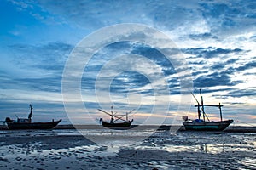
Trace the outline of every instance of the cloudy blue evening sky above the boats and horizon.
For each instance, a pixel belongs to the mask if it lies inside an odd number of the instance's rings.
[[[35,122],[97,124],[109,118],[97,109],[113,105],[134,109],[135,124],[181,124],[196,118],[190,93],[200,99],[201,89],[206,104],[224,105],[224,119],[256,124],[253,0],[1,0],[0,23],[0,120],[26,117],[32,104]],[[85,63],[92,38],[104,46]],[[218,108],[206,112],[219,119]]]

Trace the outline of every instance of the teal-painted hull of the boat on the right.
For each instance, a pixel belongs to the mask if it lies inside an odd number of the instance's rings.
[[[219,121],[219,122],[183,122],[186,130],[195,131],[223,131],[229,127],[233,120]]]

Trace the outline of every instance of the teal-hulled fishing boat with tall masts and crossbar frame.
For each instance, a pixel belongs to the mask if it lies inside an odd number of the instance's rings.
[[[226,127],[229,127],[230,124],[233,122],[233,120],[223,120],[222,111],[221,111],[221,107],[223,107],[223,105],[220,105],[220,103],[218,105],[204,105],[203,98],[201,95],[201,89],[200,89],[201,104],[195,98],[195,95],[194,94],[192,95],[195,101],[197,102],[197,105],[195,105],[195,107],[197,107],[198,119],[190,120],[188,116],[183,116],[183,120],[184,120],[183,126],[185,127],[186,130],[223,131]],[[217,122],[210,121],[210,119],[208,118],[205,112],[205,106],[218,107],[219,114],[220,114],[220,121],[217,121]],[[202,114],[202,119],[201,119],[201,114]]]

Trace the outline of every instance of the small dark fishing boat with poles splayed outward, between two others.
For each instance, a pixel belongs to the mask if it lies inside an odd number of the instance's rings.
[[[113,106],[111,107],[113,109]],[[108,128],[116,128],[116,127],[130,127],[131,123],[133,122],[133,119],[128,120],[128,115],[131,113],[131,111],[126,112],[125,115],[117,115],[113,111],[110,111],[111,113],[107,111],[103,111],[101,109],[98,109],[99,111],[102,111],[103,113],[106,113],[108,116],[110,116],[110,122],[105,122],[103,121],[102,118],[100,118],[100,122],[102,123],[103,127],[108,127]],[[123,117],[126,116],[126,119],[123,119]],[[121,122],[117,122],[121,121]]]

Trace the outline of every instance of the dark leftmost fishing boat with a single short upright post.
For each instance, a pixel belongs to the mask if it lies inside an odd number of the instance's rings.
[[[19,130],[19,129],[50,129],[55,126],[59,122],[61,122],[61,119],[59,121],[52,120],[51,122],[32,122],[32,105],[30,106],[30,113],[28,115],[28,118],[19,118],[17,116],[17,121],[14,122],[14,120],[11,120],[9,117],[6,117],[5,122],[7,123],[7,126],[10,130]]]

